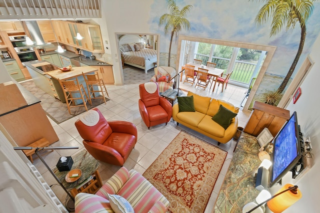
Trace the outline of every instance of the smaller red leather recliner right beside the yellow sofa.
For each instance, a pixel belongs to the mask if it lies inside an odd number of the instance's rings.
[[[148,129],[162,123],[166,125],[172,116],[172,105],[159,95],[158,85],[154,82],[140,84],[139,91],[139,112]]]

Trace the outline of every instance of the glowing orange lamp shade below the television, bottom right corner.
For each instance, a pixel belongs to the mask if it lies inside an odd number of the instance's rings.
[[[286,184],[277,193],[282,192],[290,187],[293,187],[293,185]],[[266,204],[269,210],[271,210],[273,213],[281,213],[300,198],[302,198],[302,194],[299,189],[289,190],[268,201]]]

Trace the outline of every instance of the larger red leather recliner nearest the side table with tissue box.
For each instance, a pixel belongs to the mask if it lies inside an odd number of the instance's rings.
[[[137,141],[134,124],[127,121],[109,121],[97,108],[84,113],[75,122],[85,149],[96,160],[123,166]]]

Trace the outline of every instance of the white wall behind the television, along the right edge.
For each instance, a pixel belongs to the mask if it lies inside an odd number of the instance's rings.
[[[319,100],[319,79],[320,79],[320,36],[317,37],[310,52],[310,58],[314,64],[302,82],[301,96],[295,104],[290,102],[287,109],[290,113],[296,111],[298,124],[305,137],[310,137],[314,162],[312,168],[302,174],[302,177],[295,183],[301,193],[302,198],[292,208],[289,213],[315,213],[318,212],[320,185],[320,100]]]

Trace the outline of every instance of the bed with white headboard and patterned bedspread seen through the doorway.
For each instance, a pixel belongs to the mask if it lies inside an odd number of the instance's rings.
[[[139,35],[122,35],[119,47],[123,63],[143,69],[144,73],[154,67],[156,50],[145,48]]]

